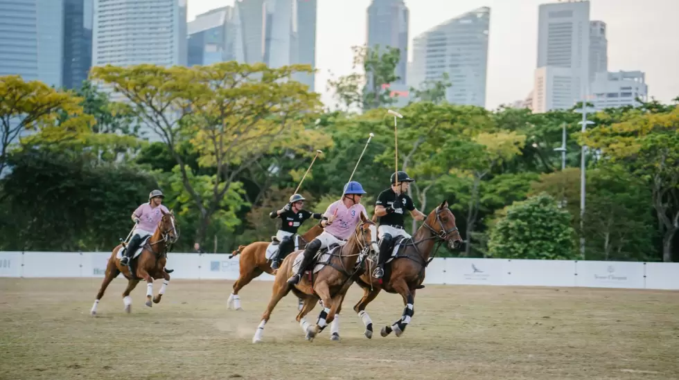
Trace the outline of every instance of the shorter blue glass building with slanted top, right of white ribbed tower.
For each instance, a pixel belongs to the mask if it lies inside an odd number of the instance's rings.
[[[229,51],[229,21],[233,8],[227,6],[197,15],[188,23],[188,66],[233,60]]]

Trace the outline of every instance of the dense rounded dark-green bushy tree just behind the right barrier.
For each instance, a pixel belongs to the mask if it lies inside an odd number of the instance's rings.
[[[571,215],[553,197],[540,194],[506,208],[491,228],[488,255],[529,260],[575,260]]]

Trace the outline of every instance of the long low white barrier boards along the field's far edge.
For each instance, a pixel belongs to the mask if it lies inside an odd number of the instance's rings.
[[[103,278],[109,252],[0,252],[0,277]],[[175,279],[236,280],[240,256],[170,253]],[[271,281],[263,273],[256,280]],[[679,263],[435,258],[425,284],[679,290]]]

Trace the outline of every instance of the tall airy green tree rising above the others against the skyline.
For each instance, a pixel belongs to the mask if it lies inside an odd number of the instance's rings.
[[[352,46],[353,69],[360,67],[363,74],[351,73],[337,80],[328,81],[328,90],[335,93],[339,106],[346,109],[375,109],[390,105],[396,100],[391,98],[389,84],[399,79],[396,66],[400,60],[400,50],[387,46]]]

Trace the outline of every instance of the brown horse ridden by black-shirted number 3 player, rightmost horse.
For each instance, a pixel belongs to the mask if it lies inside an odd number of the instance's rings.
[[[385,275],[376,280],[372,278],[370,269],[361,273],[356,283],[363,288],[363,298],[353,307],[365,326],[364,335],[373,336],[373,323],[365,312],[367,305],[374,300],[382,289],[387,293],[398,293],[403,297],[405,309],[403,315],[391,326],[382,327],[380,334],[387,336],[392,331],[396,336],[403,334],[405,327],[414,315],[415,290],[424,286],[425,269],[430,263],[430,253],[434,244],[448,242],[452,249],[458,248],[462,237],[455,224],[455,215],[448,208],[448,201],[443,201],[425,219],[412,239],[403,239],[403,248],[394,259],[385,265]],[[438,247],[436,248],[438,250]],[[370,261],[370,260],[367,260]]]

